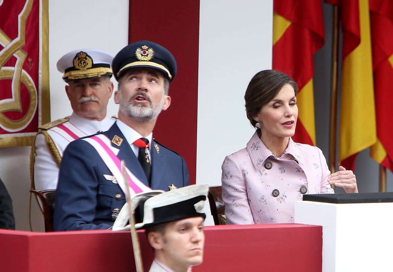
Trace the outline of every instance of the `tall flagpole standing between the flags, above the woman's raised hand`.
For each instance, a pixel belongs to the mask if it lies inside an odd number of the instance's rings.
[[[338,6],[334,6],[332,31],[332,77],[330,108],[330,156],[329,167],[336,172],[336,128],[337,128],[337,89],[338,89]]]

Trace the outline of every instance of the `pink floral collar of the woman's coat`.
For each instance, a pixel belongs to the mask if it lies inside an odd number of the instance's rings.
[[[299,145],[298,143],[294,142],[291,137],[289,137],[289,142],[288,142],[288,147],[285,150],[285,154],[283,155],[284,157],[287,157],[288,155],[292,155],[294,159],[298,160],[299,163],[303,165],[303,158],[301,156],[301,152],[299,150]],[[247,143],[247,151],[248,154],[251,157],[251,160],[253,161],[254,165],[259,168],[262,166],[262,163],[268,158],[268,157],[274,157],[274,154],[266,148],[266,146],[263,144],[261,139],[258,136],[258,130],[255,131],[254,135],[252,135],[250,141]],[[281,156],[282,159],[283,156]]]

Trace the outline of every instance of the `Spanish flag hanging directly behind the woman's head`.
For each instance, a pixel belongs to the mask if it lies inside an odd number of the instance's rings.
[[[273,69],[299,85],[294,141],[315,145],[313,54],[325,43],[321,1],[274,0]]]

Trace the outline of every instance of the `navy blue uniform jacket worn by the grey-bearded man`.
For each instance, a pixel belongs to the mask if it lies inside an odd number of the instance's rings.
[[[110,140],[114,135],[123,138],[118,157],[125,161],[129,170],[149,186],[145,173],[132,151],[130,144],[116,123],[102,132]],[[151,149],[151,188],[169,191],[171,184],[176,187],[189,185],[187,165],[180,155],[160,145],[160,153]],[[112,213],[125,204],[125,194],[120,186],[105,179],[103,174],[112,176],[95,148],[86,141],[72,141],[64,150],[55,198],[53,224],[55,231],[79,229],[108,229],[114,219]],[[116,195],[120,195],[117,198]],[[118,210],[117,210],[118,209]]]

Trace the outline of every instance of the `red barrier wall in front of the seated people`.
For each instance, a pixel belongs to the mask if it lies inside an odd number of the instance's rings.
[[[153,259],[138,231],[144,271]],[[205,227],[198,271],[321,271],[322,227],[266,224]],[[0,230],[1,271],[136,271],[129,232]]]

